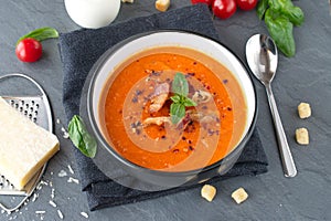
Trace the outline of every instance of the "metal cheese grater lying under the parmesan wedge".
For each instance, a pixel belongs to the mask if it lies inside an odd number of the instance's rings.
[[[26,85],[29,84],[26,87],[21,84],[20,88],[24,87],[23,92],[18,92],[18,88],[14,86],[15,83],[19,83],[17,82],[18,80],[21,81],[21,83],[25,83]],[[9,84],[10,82],[12,84]],[[0,76],[0,88],[6,87],[10,87],[11,91],[14,90],[13,94],[21,94],[6,95],[2,91],[0,91],[0,96],[2,98],[39,126],[47,129],[49,131],[53,130],[52,112],[46,93],[33,78],[19,73]],[[41,180],[45,167],[46,164],[34,175],[23,190],[15,189],[4,176],[0,175],[0,208],[7,212],[19,209],[33,193]]]

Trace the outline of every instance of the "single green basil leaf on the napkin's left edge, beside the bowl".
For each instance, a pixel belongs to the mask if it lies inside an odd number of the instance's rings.
[[[94,158],[96,155],[97,143],[95,138],[88,134],[83,119],[74,115],[68,124],[70,138],[86,157]]]

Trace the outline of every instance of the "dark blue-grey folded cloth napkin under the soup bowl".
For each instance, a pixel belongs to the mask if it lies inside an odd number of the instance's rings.
[[[196,32],[217,40],[210,10],[204,4],[190,6],[164,13],[131,19],[98,30],[77,30],[60,36],[60,51],[63,62],[63,104],[67,120],[79,114],[81,92],[93,64],[98,57],[119,41],[141,32],[160,29],[178,29]],[[196,187],[180,187],[162,191],[141,191],[124,187],[105,176],[92,159],[76,148],[77,168],[83,191],[87,193],[90,210],[114,207]],[[258,175],[267,171],[267,158],[257,130],[247,143],[235,166],[225,175],[210,182],[242,175]]]

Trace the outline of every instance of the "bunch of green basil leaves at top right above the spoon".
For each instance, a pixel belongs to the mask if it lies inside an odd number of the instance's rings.
[[[305,14],[291,0],[260,0],[257,15],[265,19],[267,29],[278,49],[288,57],[296,54],[293,27],[301,25]]]

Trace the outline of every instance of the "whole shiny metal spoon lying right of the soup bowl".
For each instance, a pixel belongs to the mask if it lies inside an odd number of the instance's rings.
[[[271,91],[271,82],[276,74],[278,63],[278,53],[275,42],[271,38],[264,34],[253,35],[246,43],[246,59],[253,74],[265,85],[267,91],[285,177],[295,177],[297,175],[297,168]]]

